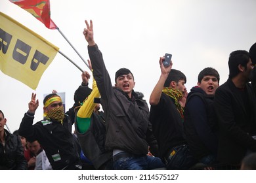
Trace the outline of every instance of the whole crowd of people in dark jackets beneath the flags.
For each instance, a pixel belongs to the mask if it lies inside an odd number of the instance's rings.
[[[0,110],[0,169],[256,169],[256,43],[229,55],[228,80],[219,86],[206,67],[188,92],[186,76],[163,65],[150,95],[135,92],[127,68],[115,84],[85,20],[89,68],[64,112],[55,92],[43,100],[45,117],[33,124],[39,106],[32,93],[18,131],[9,133]],[[100,105],[102,110],[100,110]],[[72,133],[72,125],[75,133]]]

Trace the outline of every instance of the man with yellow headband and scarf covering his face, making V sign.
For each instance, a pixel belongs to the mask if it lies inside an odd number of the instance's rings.
[[[62,99],[56,93],[51,93],[45,97],[43,105],[46,118],[33,125],[39,101],[32,93],[28,112],[20,124],[20,135],[39,141],[53,169],[81,169],[71,133],[72,122],[64,113]]]

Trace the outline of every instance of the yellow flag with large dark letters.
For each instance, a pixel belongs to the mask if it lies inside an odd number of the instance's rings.
[[[33,90],[58,47],[0,12],[0,70]]]

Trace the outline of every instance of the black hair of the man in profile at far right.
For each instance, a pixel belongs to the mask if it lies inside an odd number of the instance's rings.
[[[245,50],[236,50],[229,55],[228,58],[228,68],[229,68],[229,78],[234,78],[240,73],[238,65],[245,67],[247,70],[247,63],[249,61],[250,55],[249,52]]]

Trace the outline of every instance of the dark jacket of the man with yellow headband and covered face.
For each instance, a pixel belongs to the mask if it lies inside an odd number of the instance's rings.
[[[33,118],[32,114],[25,113],[18,131],[26,139],[39,141],[53,169],[79,165],[79,156],[70,133],[72,122],[68,116],[65,115],[63,125],[54,120],[41,120],[33,125]]]

